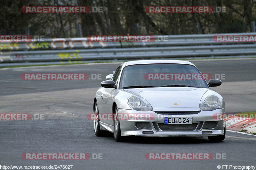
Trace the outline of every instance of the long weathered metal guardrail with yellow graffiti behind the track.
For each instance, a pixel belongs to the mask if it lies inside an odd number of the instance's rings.
[[[256,54],[255,42],[215,42],[215,35],[167,35],[167,41],[91,42],[88,38],[44,39],[31,42],[0,42],[1,63],[146,59],[175,57],[239,56]]]

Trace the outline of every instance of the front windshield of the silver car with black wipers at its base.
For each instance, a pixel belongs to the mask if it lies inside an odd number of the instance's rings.
[[[198,69],[187,64],[140,64],[123,69],[120,89],[147,87],[208,88]]]

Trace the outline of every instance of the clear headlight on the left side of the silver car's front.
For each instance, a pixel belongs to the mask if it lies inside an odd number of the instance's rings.
[[[129,106],[138,111],[151,111],[153,110],[152,106],[149,103],[143,102],[139,97],[132,96],[128,98]]]

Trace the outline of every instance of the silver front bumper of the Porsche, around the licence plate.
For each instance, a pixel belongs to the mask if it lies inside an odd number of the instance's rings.
[[[225,108],[212,111],[201,110],[197,114],[157,114],[154,110],[141,112],[133,109],[118,109],[120,115],[150,114],[151,117],[154,117],[150,120],[120,119],[122,136],[202,137],[223,135],[225,121],[223,119],[217,120],[214,115],[224,113]],[[192,117],[192,124],[166,125],[164,124],[164,117]],[[138,126],[138,124],[142,124],[142,126]]]

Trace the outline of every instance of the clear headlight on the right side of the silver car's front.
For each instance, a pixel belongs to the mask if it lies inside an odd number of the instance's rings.
[[[208,96],[203,103],[200,103],[201,110],[215,110],[219,107],[220,100],[216,96]]]

